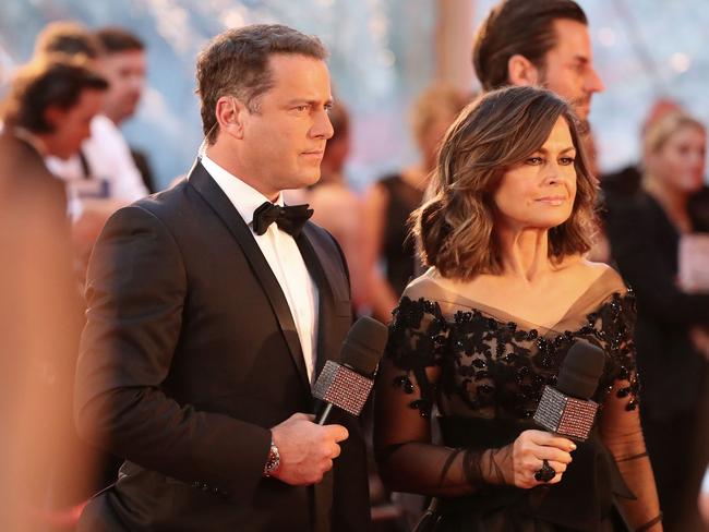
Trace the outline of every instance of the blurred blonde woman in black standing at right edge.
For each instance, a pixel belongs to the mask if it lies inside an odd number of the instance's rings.
[[[606,222],[613,256],[637,293],[641,419],[670,531],[701,530],[696,500],[709,446],[699,437],[707,420],[709,286],[689,292],[681,273],[709,267],[709,256],[680,250],[687,235],[709,230],[689,208],[702,188],[706,146],[705,126],[684,112],[654,121],[644,137],[641,190]]]

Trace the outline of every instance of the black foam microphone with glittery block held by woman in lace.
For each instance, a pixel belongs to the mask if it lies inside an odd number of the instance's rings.
[[[556,387],[544,386],[534,421],[549,432],[585,442],[598,410],[598,403],[590,397],[604,364],[602,349],[588,342],[574,343],[562,362]]]

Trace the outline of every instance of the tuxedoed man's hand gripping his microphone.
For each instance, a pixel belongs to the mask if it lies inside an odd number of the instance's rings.
[[[316,484],[333,469],[339,442],[349,436],[343,425],[316,425],[313,415],[297,413],[271,430],[280,466],[272,476],[286,484]]]

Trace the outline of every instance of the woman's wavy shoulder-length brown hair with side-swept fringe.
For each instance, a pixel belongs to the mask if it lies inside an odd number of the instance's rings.
[[[570,217],[549,231],[549,255],[561,261],[589,251],[598,182],[589,171],[578,119],[549,90],[507,87],[466,107],[443,140],[434,195],[410,220],[423,264],[462,280],[502,271],[493,194],[507,169],[542,147],[560,117],[576,148],[576,198]]]

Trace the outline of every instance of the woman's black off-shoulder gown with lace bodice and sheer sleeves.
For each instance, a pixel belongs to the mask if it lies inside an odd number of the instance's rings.
[[[615,530],[613,508],[632,524],[658,513],[638,415],[635,294],[614,271],[551,328],[426,279],[407,295],[394,311],[377,376],[374,449],[389,488],[435,497],[428,516],[436,531],[599,532]],[[520,487],[526,472],[515,470],[515,440],[538,428],[531,418],[543,388],[556,384],[578,341],[605,353],[592,397],[597,423],[558,483]]]

